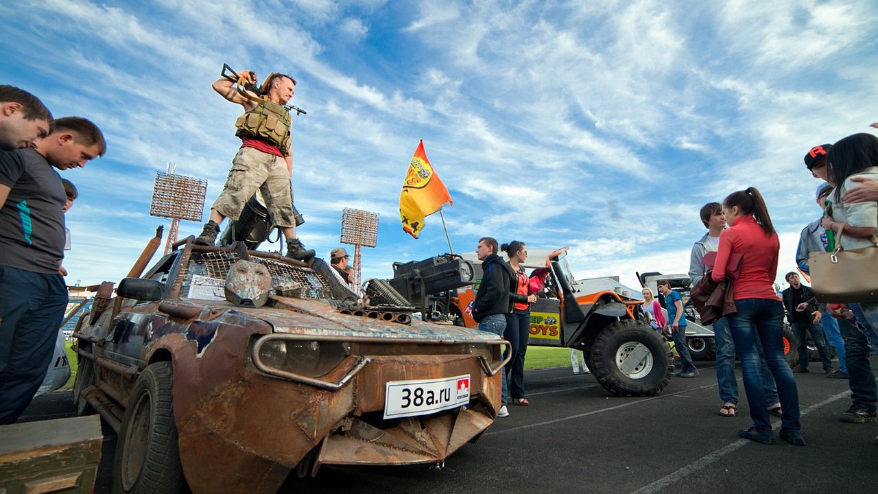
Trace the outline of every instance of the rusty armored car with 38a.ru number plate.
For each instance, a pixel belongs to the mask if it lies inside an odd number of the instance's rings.
[[[322,464],[441,465],[493,424],[494,335],[413,319],[382,300],[399,299],[389,286],[358,301],[321,259],[189,237],[138,278],[151,256],[115,296],[104,283],[75,332],[77,409],[119,432],[115,491],[275,492]],[[242,259],[255,272],[227,281]],[[262,300],[254,280],[270,283]]]

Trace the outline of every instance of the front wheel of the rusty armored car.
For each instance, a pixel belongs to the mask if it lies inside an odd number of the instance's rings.
[[[170,362],[156,362],[140,374],[119,430],[113,492],[133,494],[186,490],[174,422]]]

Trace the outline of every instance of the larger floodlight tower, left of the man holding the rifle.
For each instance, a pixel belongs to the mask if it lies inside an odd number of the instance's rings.
[[[153,202],[149,207],[150,216],[171,219],[168,243],[165,243],[165,255],[176,242],[180,220],[201,222],[207,194],[207,180],[176,175],[175,171],[176,164],[171,169],[171,163],[168,163],[165,173],[155,173]]]

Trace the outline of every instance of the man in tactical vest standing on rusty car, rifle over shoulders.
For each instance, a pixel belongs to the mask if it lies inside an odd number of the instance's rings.
[[[241,71],[241,79],[255,84],[256,74]],[[243,84],[243,80],[240,81]],[[198,245],[213,245],[219,234],[219,225],[226,218],[237,220],[244,205],[257,189],[265,198],[274,224],[286,238],[286,257],[308,261],[313,250],[305,250],[296,237],[296,218],[292,207],[292,150],[290,148],[290,113],[284,105],[296,89],[296,81],[285,74],[272,74],[263,84],[264,98],[245,96],[235,83],[220,77],[213,83],[213,91],[223,98],[244,107],[244,113],[235,121],[241,137],[241,149],[232,159],[226,185],[211,206],[211,215],[195,239]],[[246,91],[245,91],[246,93]]]

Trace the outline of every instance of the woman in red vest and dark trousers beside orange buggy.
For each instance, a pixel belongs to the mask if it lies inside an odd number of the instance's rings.
[[[524,243],[514,240],[500,245],[500,251],[506,252],[509,265],[515,271],[515,279],[509,287],[509,301],[513,302],[512,313],[506,315],[505,338],[512,344],[512,360],[509,360],[504,372],[508,373],[509,396],[512,403],[528,406],[524,397],[524,354],[528,352],[528,336],[530,334],[530,304],[536,301],[536,295],[530,289],[530,280],[524,273],[522,263],[528,258],[528,248]]]

